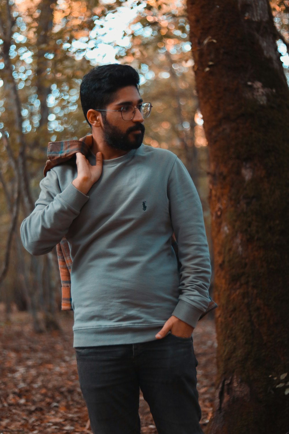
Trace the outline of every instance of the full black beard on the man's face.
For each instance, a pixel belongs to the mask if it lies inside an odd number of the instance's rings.
[[[140,130],[141,133],[130,134],[131,132],[138,130]],[[137,149],[143,143],[144,133],[145,127],[143,124],[135,124],[128,128],[123,134],[119,128],[111,125],[107,122],[107,119],[104,118],[103,138],[105,143],[110,148],[119,149],[121,151],[131,151],[131,149]]]

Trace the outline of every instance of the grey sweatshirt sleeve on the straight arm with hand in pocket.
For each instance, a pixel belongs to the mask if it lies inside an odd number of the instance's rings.
[[[211,264],[201,201],[179,158],[172,167],[167,194],[182,264],[179,302],[172,315],[195,327],[210,302]]]

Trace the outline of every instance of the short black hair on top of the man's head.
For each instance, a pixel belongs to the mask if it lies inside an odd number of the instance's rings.
[[[87,122],[89,109],[106,109],[114,100],[115,92],[126,86],[140,89],[139,73],[130,65],[100,65],[85,74],[80,85],[80,101]],[[101,115],[106,119],[106,112],[101,112]]]

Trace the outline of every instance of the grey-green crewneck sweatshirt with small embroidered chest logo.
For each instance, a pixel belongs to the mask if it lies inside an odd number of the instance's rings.
[[[92,152],[88,160],[95,164]],[[33,255],[68,240],[74,346],[154,340],[171,315],[195,327],[211,266],[201,202],[179,158],[141,145],[104,160],[88,195],[71,183],[76,176],[74,159],[52,168],[20,228]]]

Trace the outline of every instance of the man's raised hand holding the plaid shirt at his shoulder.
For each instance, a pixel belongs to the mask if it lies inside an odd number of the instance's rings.
[[[91,166],[87,158],[81,152],[76,153],[77,177],[72,184],[81,193],[87,194],[93,184],[99,180],[102,172],[102,154],[97,152],[96,164]]]

